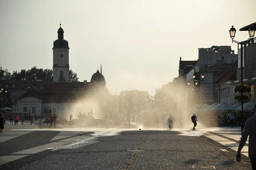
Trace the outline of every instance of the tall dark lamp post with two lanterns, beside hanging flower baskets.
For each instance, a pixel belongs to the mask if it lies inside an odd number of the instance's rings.
[[[235,42],[237,43],[238,45],[238,48],[239,48],[239,44],[241,45],[241,85],[243,85],[243,46],[247,43],[249,43],[250,41],[252,41],[253,43],[253,37],[254,37],[254,34],[255,34],[255,28],[253,28],[253,26],[251,26],[248,30],[248,33],[249,33],[249,37],[251,38],[251,40],[246,40],[246,41],[236,41],[234,40],[234,37],[236,35],[236,28],[234,28],[234,26],[232,26],[230,29],[229,29],[229,35],[230,35],[230,38],[232,39],[232,43]],[[243,92],[241,92],[242,95],[243,95]],[[244,130],[244,127],[245,127],[245,121],[244,121],[244,108],[243,108],[243,101],[241,102],[241,112],[242,112],[242,120],[241,120],[241,131],[243,132]]]

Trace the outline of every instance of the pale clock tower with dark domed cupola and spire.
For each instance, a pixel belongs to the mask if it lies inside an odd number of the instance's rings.
[[[58,39],[53,42],[53,83],[69,82],[69,44],[58,29]]]

